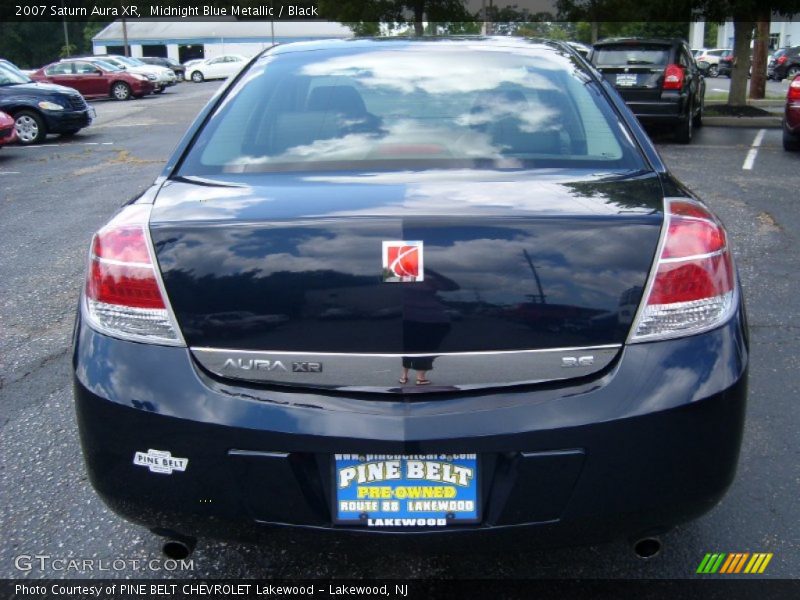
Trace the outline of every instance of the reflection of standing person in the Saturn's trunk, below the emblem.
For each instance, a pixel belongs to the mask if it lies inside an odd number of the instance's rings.
[[[458,284],[436,271],[427,269],[425,280],[403,288],[403,345],[409,355],[436,351],[450,332],[450,315],[438,292],[452,292]],[[398,380],[408,383],[409,370],[417,372],[416,385],[429,385],[428,371],[436,355],[404,356],[403,374]]]

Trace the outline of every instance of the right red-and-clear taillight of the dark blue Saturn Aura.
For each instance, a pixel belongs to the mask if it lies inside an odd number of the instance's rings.
[[[736,305],[736,274],[722,224],[693,200],[665,202],[661,252],[631,342],[706,331],[726,321]]]

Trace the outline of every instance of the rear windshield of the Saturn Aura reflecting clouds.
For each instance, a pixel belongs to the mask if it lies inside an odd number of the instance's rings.
[[[411,45],[267,55],[221,102],[179,174],[642,168],[571,55],[515,50]]]

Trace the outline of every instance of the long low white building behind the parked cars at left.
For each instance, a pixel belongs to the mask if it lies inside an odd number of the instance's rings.
[[[273,44],[347,38],[349,28],[326,21],[236,21],[192,19],[127,21],[131,56],[162,56],[185,62],[221,54],[255,56]],[[124,54],[123,22],[114,21],[92,38],[95,54]]]

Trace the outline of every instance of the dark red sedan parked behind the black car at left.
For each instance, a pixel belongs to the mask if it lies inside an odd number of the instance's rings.
[[[128,100],[131,96],[141,98],[153,91],[153,84],[144,75],[94,59],[52,63],[36,71],[31,79],[74,88],[87,98]]]

